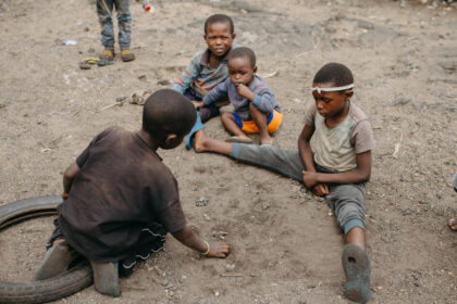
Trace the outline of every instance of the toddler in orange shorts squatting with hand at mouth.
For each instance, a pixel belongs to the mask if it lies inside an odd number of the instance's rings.
[[[273,92],[256,75],[256,54],[249,48],[237,48],[228,54],[228,78],[212,89],[196,106],[205,109],[228,97],[235,112],[223,113],[222,124],[234,135],[227,141],[251,143],[245,132],[260,132],[261,144],[273,144],[270,134],[277,130],[283,114]]]

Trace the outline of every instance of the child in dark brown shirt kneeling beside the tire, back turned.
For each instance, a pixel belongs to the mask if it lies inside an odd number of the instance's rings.
[[[187,98],[159,90],[145,103],[139,131],[112,127],[90,142],[64,173],[64,202],[36,280],[65,271],[82,254],[96,289],[119,296],[119,275],[161,250],[166,232],[208,257],[228,254],[227,244],[209,243],[186,225],[176,180],[156,152],[176,148],[195,119]]]

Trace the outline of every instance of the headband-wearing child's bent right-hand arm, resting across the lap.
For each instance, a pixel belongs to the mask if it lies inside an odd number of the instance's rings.
[[[311,188],[320,182],[359,183],[368,181],[371,175],[371,150],[356,154],[356,168],[344,173],[304,172],[305,186]]]

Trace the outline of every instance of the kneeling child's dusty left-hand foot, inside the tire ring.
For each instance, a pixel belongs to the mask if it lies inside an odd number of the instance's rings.
[[[46,280],[65,273],[70,264],[74,262],[79,254],[74,251],[65,241],[51,246],[45,254],[45,258],[35,273],[35,280]]]

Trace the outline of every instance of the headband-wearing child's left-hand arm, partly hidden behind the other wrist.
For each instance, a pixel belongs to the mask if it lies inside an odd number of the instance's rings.
[[[301,163],[305,165],[307,173],[316,173],[314,162],[312,160],[311,145],[309,144],[313,132],[314,127],[305,124],[305,127],[301,130],[300,136],[298,137],[298,151],[300,153]],[[312,190],[318,197],[330,194],[329,187],[323,182],[318,182],[313,186],[308,187],[308,185],[305,181],[305,174],[304,183],[308,189],[313,188]]]

